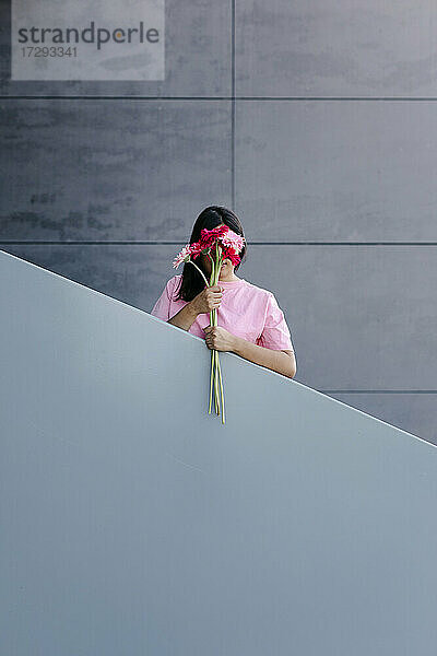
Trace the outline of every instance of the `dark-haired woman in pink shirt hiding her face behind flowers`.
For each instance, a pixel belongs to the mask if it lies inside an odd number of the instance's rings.
[[[205,208],[198,216],[190,244],[198,242],[200,231],[227,225],[244,237],[239,219],[221,206]],[[211,257],[215,259],[212,249]],[[185,262],[181,274],[170,278],[152,309],[152,315],[202,337],[209,349],[232,351],[250,362],[273,370],[288,378],[296,374],[296,359],[284,313],[274,294],[257,286],[235,271],[246,259],[246,245],[235,267],[225,259],[218,284],[205,288],[201,273],[190,262]],[[210,280],[211,260],[208,255],[196,258]],[[210,326],[210,312],[218,308],[218,326]]]

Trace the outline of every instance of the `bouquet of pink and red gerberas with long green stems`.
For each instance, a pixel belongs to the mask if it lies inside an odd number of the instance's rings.
[[[218,276],[224,259],[229,259],[234,266],[240,261],[239,253],[245,245],[245,238],[237,235],[227,225],[218,225],[212,230],[203,227],[200,232],[200,239],[193,244],[186,244],[181,251],[173,261],[175,269],[181,262],[191,262],[201,273],[206,286],[218,284]],[[211,256],[215,253],[215,258]],[[211,260],[211,277],[208,282],[203,271],[193,261],[199,255],[208,255]],[[211,326],[217,326],[217,308],[210,312]],[[224,394],[222,370],[220,366],[218,351],[211,349],[211,380],[210,380],[210,403],[208,413],[211,414],[211,402],[214,389],[215,412],[218,415],[222,406],[222,423],[225,423]]]

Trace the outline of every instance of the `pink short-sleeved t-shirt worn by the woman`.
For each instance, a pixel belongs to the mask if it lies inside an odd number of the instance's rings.
[[[187,301],[175,301],[173,297],[179,288],[181,277],[182,274],[179,273],[169,279],[153,306],[152,315],[166,321],[187,305]],[[284,313],[272,292],[259,288],[244,278],[229,282],[218,280],[218,284],[224,288],[217,308],[218,326],[260,347],[294,351]],[[189,332],[204,339],[205,333],[202,328],[209,325],[210,314],[200,314]]]

